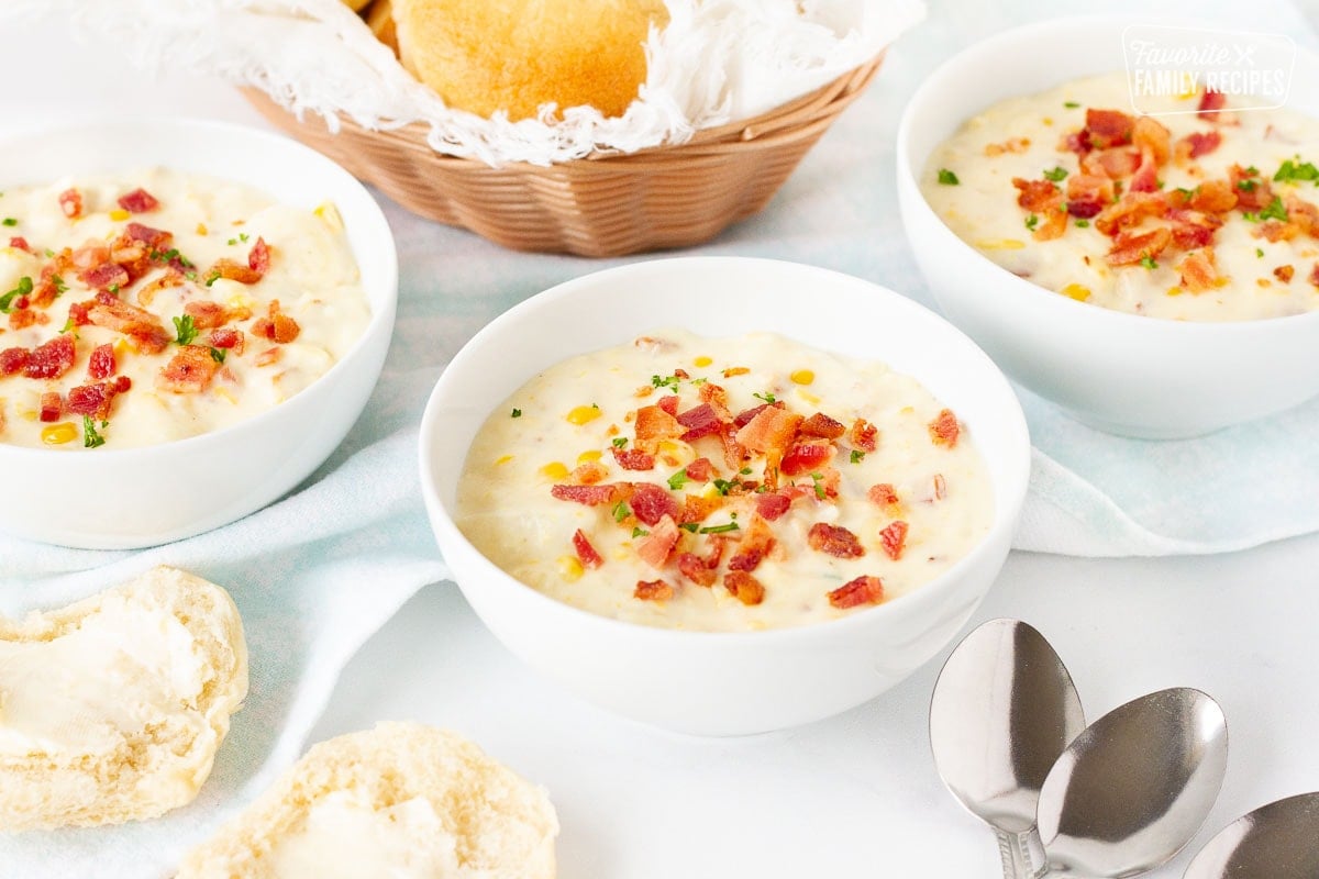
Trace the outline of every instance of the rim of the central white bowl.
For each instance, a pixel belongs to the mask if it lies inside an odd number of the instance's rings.
[[[997,393],[1002,401],[1006,403],[1006,411],[1004,412],[1002,428],[1017,434],[1020,439],[1021,453],[1017,460],[1008,460],[1004,472],[1002,484],[997,480],[995,481],[996,496],[1004,490],[1012,490],[1012,494],[1005,496],[1004,501],[1006,503],[1005,515],[995,515],[993,525],[989,531],[980,539],[976,546],[973,546],[967,555],[959,559],[951,568],[944,571],[938,577],[929,580],[911,592],[897,596],[884,604],[876,605],[873,608],[865,608],[853,611],[845,617],[838,619],[827,619],[814,623],[806,623],[803,626],[789,626],[782,629],[766,629],[761,631],[692,631],[686,629],[666,629],[661,626],[646,626],[642,623],[629,622],[625,619],[616,619],[613,617],[605,617],[603,614],[591,613],[590,610],[582,610],[580,608],[574,608],[572,605],[565,604],[557,598],[539,592],[522,582],[513,575],[505,572],[503,568],[491,561],[485,555],[477,550],[467,539],[467,536],[458,528],[454,522],[452,515],[448,511],[447,505],[441,499],[439,492],[437,490],[437,474],[431,467],[430,448],[433,445],[433,436],[439,428],[438,410],[445,398],[445,391],[447,389],[448,377],[454,372],[455,365],[462,365],[462,362],[472,356],[471,352],[479,349],[481,345],[487,344],[487,339],[503,332],[504,326],[521,320],[521,316],[526,311],[539,310],[546,304],[553,304],[561,299],[570,298],[575,295],[579,287],[592,286],[599,283],[601,279],[616,279],[627,278],[629,274],[636,273],[649,273],[658,270],[665,270],[662,266],[665,264],[698,264],[698,262],[753,262],[757,265],[786,265],[793,266],[797,270],[805,269],[813,273],[818,273],[822,277],[838,277],[845,278],[849,283],[864,283],[873,287],[876,295],[892,299],[894,307],[907,310],[913,314],[921,314],[926,319],[931,319],[936,326],[940,326],[952,337],[958,339],[960,344],[971,349],[975,357],[979,357],[985,366],[987,381],[991,382],[995,393]],[[566,354],[567,356],[567,354]],[[919,376],[913,376],[917,381],[921,381]],[[572,619],[580,625],[599,626],[601,629],[613,629],[620,633],[625,631],[629,637],[636,638],[653,638],[657,640],[673,640],[673,639],[691,639],[691,640],[728,640],[728,642],[741,642],[751,640],[757,644],[765,644],[770,640],[797,640],[802,638],[818,638],[820,633],[828,631],[843,631],[847,627],[863,626],[868,621],[873,619],[876,615],[882,615],[888,613],[894,613],[893,608],[914,608],[922,604],[930,604],[939,601],[943,597],[943,592],[947,584],[954,582],[960,579],[966,571],[973,568],[981,563],[981,557],[989,551],[991,546],[1001,539],[1010,542],[1012,531],[1016,528],[1017,522],[1021,518],[1021,510],[1026,501],[1026,493],[1030,484],[1030,432],[1026,427],[1026,416],[1021,409],[1021,402],[1017,399],[1016,393],[1012,390],[1012,385],[1008,382],[1002,370],[998,369],[997,364],[969,336],[962,332],[956,326],[948,322],[942,315],[926,308],[914,299],[904,297],[902,294],[884,287],[865,278],[859,278],[856,275],[849,275],[843,271],[835,271],[832,269],[823,269],[819,266],[791,262],[787,260],[770,260],[761,257],[737,257],[737,256],[700,256],[700,257],[661,257],[656,260],[642,260],[638,262],[630,262],[621,266],[613,266],[609,269],[601,269],[599,271],[592,271],[576,278],[571,278],[562,283],[554,285],[541,293],[537,293],[518,304],[513,306],[508,311],[503,312],[495,320],[483,327],[466,345],[454,356],[448,366],[441,374],[439,381],[435,382],[435,387],[431,389],[431,394],[426,401],[426,410],[422,414],[421,430],[418,432],[418,457],[421,465],[421,492],[426,502],[426,513],[430,518],[433,528],[443,531],[445,539],[439,540],[441,550],[443,551],[446,542],[456,542],[464,546],[472,557],[479,560],[481,565],[480,580],[492,579],[496,588],[513,590],[522,600],[529,601],[536,605],[541,611],[546,614],[562,615],[567,619]],[[466,463],[466,451],[464,451]],[[988,461],[987,461],[988,464]],[[991,474],[995,472],[991,468]],[[996,497],[995,509],[997,511],[998,499]],[[439,535],[437,535],[439,536]],[[1009,546],[1010,550],[1010,546]],[[458,576],[454,575],[454,581],[458,581]],[[992,584],[991,584],[992,586]],[[472,585],[464,585],[459,582],[459,588],[475,588],[487,589],[489,588],[484,582],[477,582]]]

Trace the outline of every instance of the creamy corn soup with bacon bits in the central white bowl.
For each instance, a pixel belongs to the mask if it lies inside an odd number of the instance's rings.
[[[798,626],[917,589],[981,540],[993,492],[971,440],[882,364],[674,329],[518,389],[472,443],[456,518],[583,610]]]

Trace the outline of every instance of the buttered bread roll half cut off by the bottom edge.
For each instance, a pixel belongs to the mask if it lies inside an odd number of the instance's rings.
[[[553,879],[541,788],[462,737],[381,723],[317,745],[177,879]]]

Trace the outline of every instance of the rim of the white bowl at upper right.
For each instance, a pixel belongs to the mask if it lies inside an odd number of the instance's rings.
[[[1169,25],[1174,20],[1167,16],[1138,16],[1138,14],[1087,14],[1087,16],[1059,16],[1057,18],[1047,18],[1045,21],[1034,21],[1030,24],[1020,25],[1016,28],[1009,28],[1006,30],[1000,30],[984,40],[973,42],[962,51],[958,51],[952,57],[943,61],[938,67],[935,67],[915,90],[915,94],[907,100],[906,107],[902,109],[902,116],[898,121],[897,132],[897,173],[902,178],[902,182],[910,183],[918,195],[918,208],[923,211],[929,217],[934,219],[939,224],[939,229],[946,233],[946,240],[950,246],[962,249],[966,253],[973,254],[980,260],[985,269],[993,274],[997,274],[1008,286],[1022,297],[1034,298],[1035,300],[1045,303],[1045,307],[1053,307],[1059,311],[1059,314],[1066,314],[1070,316],[1091,315],[1092,320],[1108,322],[1115,329],[1126,329],[1134,332],[1144,331],[1169,331],[1182,335],[1199,335],[1199,336],[1233,336],[1241,335],[1244,332],[1261,332],[1269,331],[1269,328],[1275,328],[1281,324],[1286,324],[1289,328],[1299,327],[1306,323],[1319,322],[1319,310],[1308,311],[1299,315],[1285,315],[1278,318],[1256,318],[1249,320],[1175,320],[1171,318],[1159,318],[1150,315],[1133,315],[1124,311],[1116,311],[1113,308],[1105,308],[1103,306],[1088,304],[1084,302],[1078,302],[1070,297],[1063,297],[1049,287],[1043,287],[1038,283],[1031,283],[1025,278],[1021,278],[1008,269],[1002,268],[985,254],[980,253],[977,249],[963,241],[958,235],[948,228],[934,208],[930,207],[930,202],[925,198],[925,192],[921,191],[921,178],[918,169],[914,162],[914,157],[910,150],[911,140],[911,124],[913,117],[922,111],[922,108],[930,103],[930,95],[935,90],[940,88],[948,79],[962,78],[966,75],[967,69],[988,69],[993,66],[995,58],[997,58],[1002,51],[1005,45],[1012,45],[1024,38],[1042,38],[1043,36],[1054,34],[1058,30],[1072,30],[1082,29],[1087,25],[1103,25],[1103,26],[1117,26],[1117,25]],[[1177,22],[1181,26],[1186,26],[1184,21]],[[1216,25],[1213,21],[1203,22],[1203,29],[1213,30],[1216,28],[1228,29],[1227,25]],[[1308,63],[1319,66],[1319,53],[1310,51],[1304,46],[1297,45],[1297,58],[1304,57]],[[1060,84],[1060,83],[1053,83]],[[1041,83],[1038,86],[1030,86],[1022,90],[1021,95],[1030,95],[1038,91],[1049,88],[1049,84]],[[1295,88],[1295,83],[1293,83]],[[1308,113],[1307,113],[1308,115]],[[966,121],[966,120],[962,120]],[[960,124],[960,123],[959,123]],[[929,158],[929,157],[926,157]],[[1175,329],[1174,329],[1175,327]],[[1158,328],[1158,329],[1153,329]]]

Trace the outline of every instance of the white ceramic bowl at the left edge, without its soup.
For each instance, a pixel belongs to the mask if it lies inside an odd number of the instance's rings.
[[[191,536],[259,510],[343,440],[380,377],[394,326],[398,257],[384,213],[347,171],[291,140],[199,120],[138,120],[0,142],[0,188],[69,174],[168,166],[255,186],[280,202],[332,200],[361,270],[371,323],[315,383],[247,422],[141,448],[58,452],[0,444],[0,531],[124,550]]]

